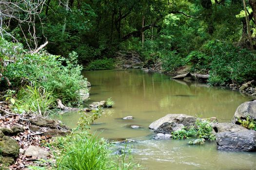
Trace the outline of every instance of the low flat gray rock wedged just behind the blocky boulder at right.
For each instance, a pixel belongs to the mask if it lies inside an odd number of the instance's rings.
[[[239,132],[239,131],[246,131],[247,129],[234,124],[234,123],[217,123],[213,126],[213,129],[216,133],[221,132]]]

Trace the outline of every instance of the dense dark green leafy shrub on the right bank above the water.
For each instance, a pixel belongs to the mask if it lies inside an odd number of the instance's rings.
[[[240,49],[223,41],[209,41],[203,51],[211,56],[211,85],[243,83],[254,79],[256,74],[256,56],[253,51]]]

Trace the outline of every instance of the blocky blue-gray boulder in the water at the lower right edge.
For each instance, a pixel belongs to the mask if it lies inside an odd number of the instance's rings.
[[[256,151],[256,131],[221,132],[216,137],[217,149],[222,151]]]

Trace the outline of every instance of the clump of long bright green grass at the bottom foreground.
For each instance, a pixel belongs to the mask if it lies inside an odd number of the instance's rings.
[[[97,136],[82,133],[68,136],[61,156],[59,170],[106,170],[111,167],[108,144]]]

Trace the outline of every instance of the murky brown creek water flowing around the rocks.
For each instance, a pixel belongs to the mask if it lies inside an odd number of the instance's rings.
[[[216,142],[209,141],[202,146],[190,146],[187,144],[190,139],[154,140],[154,133],[148,129],[151,122],[169,113],[217,117],[219,122],[228,122],[236,107],[251,100],[250,97],[141,70],[86,71],[83,74],[92,84],[90,102],[110,97],[115,101],[113,108],[104,109],[105,113],[96,121],[98,124],[92,125],[92,131],[106,139],[134,139],[127,148],[131,148],[135,161],[146,170],[256,170],[256,153],[217,151]],[[121,119],[126,116],[135,119]],[[78,119],[76,112],[62,116],[62,121],[72,128]],[[141,128],[129,128],[131,124]],[[119,144],[113,150],[124,147]]]

